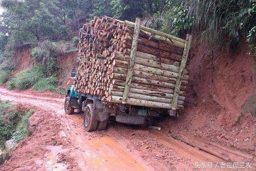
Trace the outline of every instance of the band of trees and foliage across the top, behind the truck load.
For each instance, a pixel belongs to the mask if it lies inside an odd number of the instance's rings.
[[[108,15],[133,21],[141,17],[145,25],[176,35],[193,30],[210,44],[224,40],[236,44],[244,36],[255,48],[256,0],[4,0],[1,4],[7,9],[1,18],[1,47],[70,40],[72,32],[93,16]]]

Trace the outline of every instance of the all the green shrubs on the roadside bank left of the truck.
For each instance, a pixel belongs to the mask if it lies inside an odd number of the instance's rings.
[[[76,48],[74,48],[73,42],[40,42],[37,47],[31,50],[31,55],[34,58],[36,65],[31,69],[26,69],[17,73],[15,77],[9,81],[8,88],[18,90],[33,88],[38,91],[49,90],[61,93],[62,90],[56,88],[58,80],[56,76],[58,70],[56,57],[75,50]],[[4,81],[7,81],[7,78],[7,74],[6,76],[3,75]]]

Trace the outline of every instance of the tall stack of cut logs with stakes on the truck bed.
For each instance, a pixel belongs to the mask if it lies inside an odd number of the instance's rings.
[[[108,103],[182,108],[188,71],[187,40],[108,16],[79,32],[75,90]]]

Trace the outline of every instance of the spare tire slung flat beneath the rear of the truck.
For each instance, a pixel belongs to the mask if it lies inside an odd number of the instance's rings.
[[[141,125],[145,122],[145,118],[142,116],[116,115],[116,121],[125,124]]]

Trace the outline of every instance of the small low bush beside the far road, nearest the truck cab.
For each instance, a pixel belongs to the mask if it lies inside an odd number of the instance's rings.
[[[56,76],[51,76],[49,78],[41,78],[39,81],[35,83],[33,89],[37,91],[45,91],[49,90],[51,92],[56,92],[56,82],[58,78]]]

